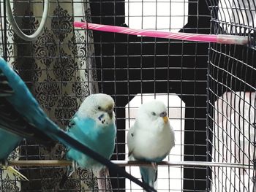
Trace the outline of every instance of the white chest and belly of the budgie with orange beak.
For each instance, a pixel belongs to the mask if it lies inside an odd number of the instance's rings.
[[[162,161],[162,158],[170,153],[171,135],[170,131],[163,130],[158,133],[138,130],[135,137],[135,158],[147,161]]]

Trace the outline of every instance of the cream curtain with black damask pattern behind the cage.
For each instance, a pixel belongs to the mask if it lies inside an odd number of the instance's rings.
[[[3,1],[1,1],[3,4]],[[1,6],[2,7],[2,6]],[[17,22],[21,28],[33,32],[42,17],[42,3],[13,4],[16,15],[23,15]],[[50,11],[45,29],[34,42],[16,37],[8,24],[8,62],[18,70],[31,92],[48,113],[50,119],[65,128],[81,101],[91,93],[97,93],[93,35],[91,31],[73,28],[75,20],[90,21],[90,7],[83,1],[50,1]],[[29,17],[28,17],[29,16]],[[1,39],[1,38],[0,38]],[[0,42],[1,45],[1,42]],[[2,47],[2,46],[1,46]],[[1,49],[0,49],[1,53]],[[1,53],[2,55],[2,53]],[[62,145],[53,148],[26,141],[16,150],[16,159],[59,159]],[[10,176],[3,174],[1,191],[50,191],[59,189],[64,168],[38,168],[23,171],[30,182],[10,183]],[[5,175],[5,176],[4,176]],[[90,177],[90,179],[88,179]],[[12,178],[13,180],[13,178]],[[15,185],[14,185],[15,184]],[[64,189],[86,190],[97,188],[97,180],[87,170],[78,170],[68,180]]]

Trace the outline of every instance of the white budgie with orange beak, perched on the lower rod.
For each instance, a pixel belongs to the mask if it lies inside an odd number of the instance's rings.
[[[175,134],[162,101],[142,104],[134,125],[127,134],[129,160],[148,161],[152,166],[140,166],[144,183],[154,187],[157,181],[157,165],[175,145]]]

